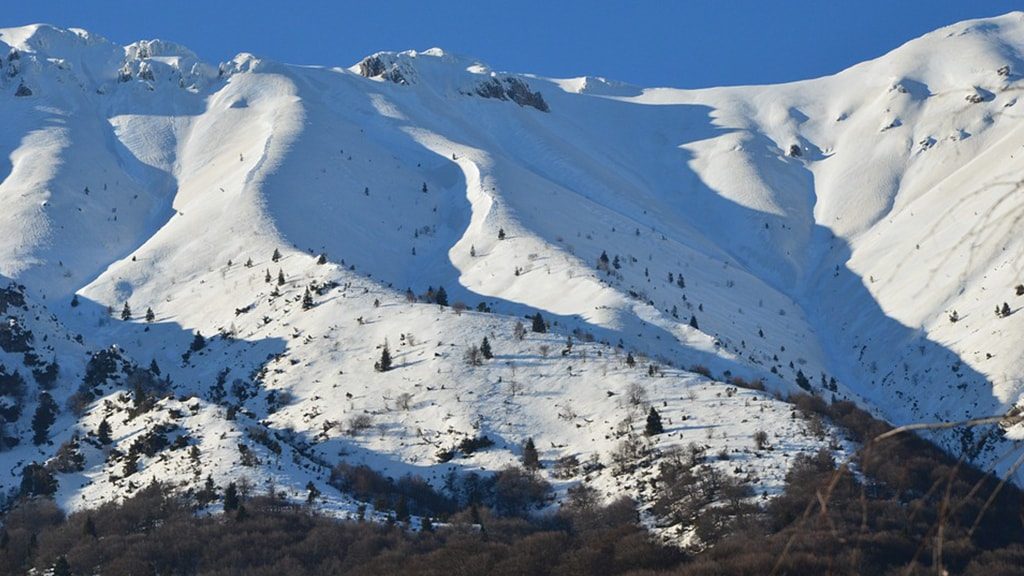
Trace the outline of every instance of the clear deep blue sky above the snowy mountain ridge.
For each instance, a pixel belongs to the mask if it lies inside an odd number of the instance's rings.
[[[348,66],[440,46],[498,70],[702,87],[812,78],[1024,0],[26,0],[0,27],[45,22],[118,43],[162,38],[209,61],[241,51]]]

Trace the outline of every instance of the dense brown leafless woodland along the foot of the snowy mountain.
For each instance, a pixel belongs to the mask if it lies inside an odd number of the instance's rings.
[[[387,522],[339,522],[273,495],[240,494],[233,485],[189,496],[152,485],[121,505],[70,517],[45,498],[26,498],[4,519],[0,574],[1021,573],[1017,488],[911,435],[870,442],[891,428],[850,403],[792,400],[866,448],[849,466],[826,452],[799,456],[784,494],[767,505],[722,489],[718,503],[696,518],[708,543],[700,551],[654,542],[633,502],[599,505],[586,488],[571,491],[557,513],[530,513],[525,503],[544,486],[524,469],[480,482],[455,511],[459,498],[424,484],[341,466],[333,483],[392,506]],[[671,459],[665,466],[658,488],[672,498],[708,482]],[[228,511],[198,515],[211,498]],[[436,520],[410,530],[410,510]]]

